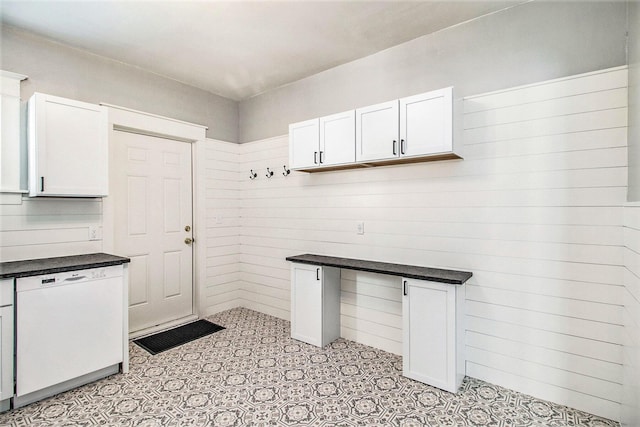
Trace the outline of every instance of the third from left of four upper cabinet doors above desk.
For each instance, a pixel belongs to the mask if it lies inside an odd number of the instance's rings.
[[[356,110],[356,161],[398,157],[398,101]]]

